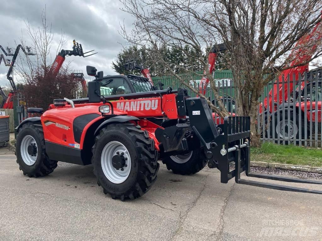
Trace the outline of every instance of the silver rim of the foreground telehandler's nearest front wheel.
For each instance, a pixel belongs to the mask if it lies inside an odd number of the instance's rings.
[[[116,169],[112,165],[112,157],[118,155],[119,153],[124,153],[125,165],[123,168]],[[103,148],[101,155],[101,165],[104,175],[112,183],[123,183],[129,176],[131,171],[131,158],[128,153],[128,149],[118,141],[111,141],[106,144]],[[122,171],[123,169],[123,171]]]

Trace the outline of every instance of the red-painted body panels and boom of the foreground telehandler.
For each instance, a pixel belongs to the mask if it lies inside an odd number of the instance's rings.
[[[124,100],[122,97],[118,101],[111,102],[114,107],[114,114],[116,115],[129,115],[135,116],[140,119],[139,125],[142,129],[147,130],[149,137],[154,139],[155,148],[159,150],[159,142],[155,137],[155,130],[162,128],[155,123],[148,121],[146,117],[162,117],[162,111],[168,117],[168,119],[185,119],[185,116],[178,115],[177,107],[175,103],[175,94],[166,94],[161,97],[146,98],[146,99],[134,99]],[[161,108],[162,103],[162,108]],[[44,138],[46,141],[57,143],[63,146],[71,147],[79,145],[79,149],[83,149],[84,139],[88,129],[95,123],[100,122],[104,119],[101,113],[98,111],[98,107],[101,103],[88,103],[76,104],[75,108],[71,108],[70,105],[64,107],[55,107],[53,104],[50,105],[48,112],[44,112],[41,116],[41,121],[44,128]],[[97,114],[90,122],[85,125],[81,132],[81,138],[75,140],[74,130],[71,123],[74,120],[84,114]],[[57,124],[58,123],[58,124]],[[63,128],[57,128],[57,126]]]

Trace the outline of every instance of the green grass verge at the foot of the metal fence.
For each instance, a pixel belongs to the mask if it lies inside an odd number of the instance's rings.
[[[251,147],[251,161],[320,167],[322,149],[282,146],[266,142],[260,148]]]

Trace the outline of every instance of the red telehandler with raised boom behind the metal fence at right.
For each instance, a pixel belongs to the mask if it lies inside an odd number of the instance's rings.
[[[310,125],[310,120],[312,122],[321,122],[321,99],[312,102],[308,96],[304,99],[306,93],[303,93],[304,89],[310,92],[312,89],[317,90],[321,87],[321,70],[314,69],[308,72],[308,64],[300,65],[301,63],[308,62],[317,48],[316,45],[310,45],[309,43],[321,38],[322,22],[318,22],[308,35],[302,37],[297,42],[296,47],[301,45],[304,47],[290,54],[290,58],[294,58],[290,67],[294,67],[282,71],[270,90],[268,98],[265,97],[263,105],[260,104],[259,109],[265,116],[265,124],[267,125],[270,122],[270,127],[267,128],[267,136],[269,135],[270,138],[279,136],[284,140],[298,139],[300,130],[301,137],[304,137],[305,128],[308,128]],[[307,73],[303,76],[305,72]],[[298,85],[299,76],[302,76],[301,84],[295,90],[294,85]],[[314,85],[317,83],[318,86],[312,86],[312,83],[310,85],[309,79],[317,79],[318,81],[314,81]],[[298,95],[299,98],[302,98],[302,102],[294,103]],[[302,128],[299,128],[299,125]],[[288,142],[286,141],[287,144]]]

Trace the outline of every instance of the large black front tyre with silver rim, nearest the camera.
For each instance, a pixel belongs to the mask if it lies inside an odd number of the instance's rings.
[[[156,181],[159,170],[154,141],[131,123],[110,124],[99,131],[92,148],[97,184],[113,199],[135,199]]]

